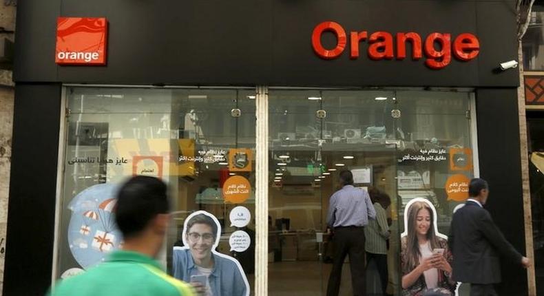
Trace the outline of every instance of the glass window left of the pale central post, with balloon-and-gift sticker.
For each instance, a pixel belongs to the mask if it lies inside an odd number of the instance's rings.
[[[67,107],[59,277],[103,261],[123,244],[114,222],[116,188],[129,176],[149,175],[167,182],[172,200],[160,256],[168,271],[183,268],[174,248],[192,250],[183,240],[188,215],[205,211],[221,229],[208,255],[239,262],[240,278],[253,287],[254,89],[68,87]],[[247,213],[243,223],[231,221],[235,207]],[[233,247],[235,232],[244,244]]]

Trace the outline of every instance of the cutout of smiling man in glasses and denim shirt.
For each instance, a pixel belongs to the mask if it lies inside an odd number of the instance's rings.
[[[249,296],[249,283],[238,260],[216,251],[220,235],[214,215],[191,213],[183,226],[185,246],[174,246],[174,277],[205,290],[207,296]]]

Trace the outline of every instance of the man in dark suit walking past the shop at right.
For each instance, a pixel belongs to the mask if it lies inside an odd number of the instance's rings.
[[[470,283],[470,295],[497,295],[493,284],[501,282],[499,255],[529,266],[510,244],[483,209],[488,200],[488,182],[470,180],[469,198],[465,207],[453,215],[448,244],[453,252],[452,277],[457,282]]]

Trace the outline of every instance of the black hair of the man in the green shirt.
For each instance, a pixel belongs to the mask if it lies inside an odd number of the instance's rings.
[[[168,213],[165,182],[149,176],[130,178],[117,194],[115,220],[123,237],[134,237],[158,214]]]

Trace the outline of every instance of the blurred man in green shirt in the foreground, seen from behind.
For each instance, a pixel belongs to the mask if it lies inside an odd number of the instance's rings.
[[[193,296],[189,284],[167,275],[153,259],[162,249],[169,203],[166,184],[136,176],[118,192],[116,222],[125,243],[106,262],[65,279],[51,296]]]

